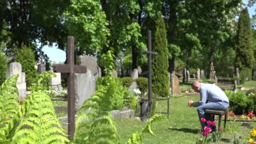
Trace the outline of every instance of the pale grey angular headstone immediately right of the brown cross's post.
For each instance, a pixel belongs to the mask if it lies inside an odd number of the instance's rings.
[[[95,93],[96,81],[90,69],[85,74],[75,73],[75,112]]]

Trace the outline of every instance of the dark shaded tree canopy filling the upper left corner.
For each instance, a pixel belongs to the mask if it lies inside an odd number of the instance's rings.
[[[11,53],[22,45],[31,47],[38,40],[42,46],[57,43],[64,50],[67,23],[62,13],[68,5],[69,0],[1,0],[0,31],[5,30],[11,38],[6,52]],[[41,48],[33,48],[41,52]]]

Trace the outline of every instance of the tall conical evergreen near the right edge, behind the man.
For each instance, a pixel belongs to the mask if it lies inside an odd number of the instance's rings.
[[[243,67],[251,69],[254,62],[250,16],[248,9],[244,8],[238,19],[235,66],[240,69]]]

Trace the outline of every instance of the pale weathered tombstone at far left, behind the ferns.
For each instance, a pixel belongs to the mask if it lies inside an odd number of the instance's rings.
[[[22,66],[19,62],[12,62],[9,67],[9,72],[5,73],[5,78],[8,79],[11,75],[16,74],[19,74],[16,87],[19,91],[19,98],[23,100],[27,96],[26,75],[22,72]]]

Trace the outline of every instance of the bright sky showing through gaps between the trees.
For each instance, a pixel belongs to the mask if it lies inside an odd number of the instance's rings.
[[[243,2],[245,4],[247,4],[248,0],[243,0]],[[251,8],[248,7],[248,12],[250,14],[250,17],[252,17],[252,15],[256,13],[255,9],[256,9],[256,5],[255,4]],[[62,51],[62,50],[58,49],[56,46],[53,46],[53,47],[44,46],[43,47],[43,51],[44,51],[45,54],[48,55],[48,57],[50,58],[50,60],[52,62],[56,61],[57,63],[59,63],[59,62],[64,62],[66,60],[66,53],[65,53],[65,51]]]

